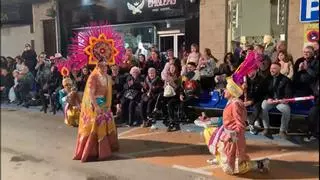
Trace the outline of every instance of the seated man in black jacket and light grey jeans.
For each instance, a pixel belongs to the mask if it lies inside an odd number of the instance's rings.
[[[274,102],[274,100],[281,100],[292,97],[291,81],[286,76],[280,73],[281,65],[277,62],[272,63],[270,67],[270,74],[266,79],[267,94],[263,100],[262,108],[262,122],[264,126],[263,134],[269,136],[269,111],[272,108],[277,108],[281,113],[280,137],[287,138],[286,131],[290,121],[291,109],[287,101]]]

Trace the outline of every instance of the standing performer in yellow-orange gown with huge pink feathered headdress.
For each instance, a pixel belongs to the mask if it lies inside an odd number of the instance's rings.
[[[91,25],[77,34],[70,46],[70,59],[61,66],[81,69],[96,65],[84,90],[74,160],[104,160],[119,148],[111,113],[112,79],[108,65],[121,63],[122,37],[109,25]],[[93,158],[93,159],[92,159]]]

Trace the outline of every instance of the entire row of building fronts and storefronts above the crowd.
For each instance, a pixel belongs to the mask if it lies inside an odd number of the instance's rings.
[[[235,42],[262,44],[265,35],[272,37],[274,45],[279,40],[285,41],[294,59],[302,55],[303,46],[319,39],[319,0],[32,2],[36,3],[20,5],[30,9],[31,20],[18,23],[15,17],[2,23],[1,54],[4,56],[18,55],[25,43],[32,44],[37,52],[67,55],[71,37],[85,31],[88,23],[97,21],[112,24],[124,35],[125,46],[137,53],[155,45],[161,52],[174,49],[178,56],[183,46],[189,49],[192,43],[199,43],[201,52],[210,48],[220,60],[226,52],[233,51]],[[9,7],[6,11],[15,10]],[[303,14],[313,20],[301,19]],[[10,13],[9,16],[14,17]]]

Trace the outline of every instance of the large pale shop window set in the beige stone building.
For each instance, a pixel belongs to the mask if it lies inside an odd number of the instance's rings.
[[[265,35],[286,41],[287,7],[288,0],[228,0],[228,51],[232,42],[263,44]]]

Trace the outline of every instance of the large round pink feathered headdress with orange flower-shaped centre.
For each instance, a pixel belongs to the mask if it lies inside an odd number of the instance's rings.
[[[90,23],[84,31],[74,35],[68,47],[69,58],[57,64],[59,71],[63,68],[80,70],[86,65],[97,64],[101,59],[109,65],[122,63],[125,51],[123,38],[108,23]]]

